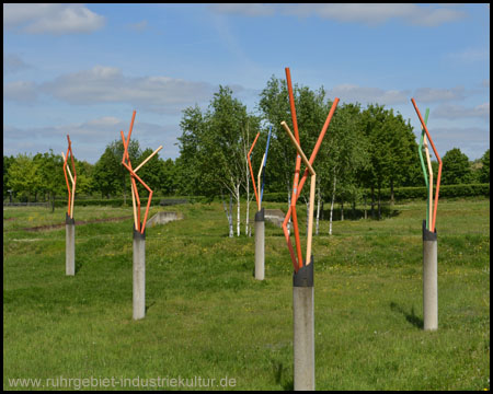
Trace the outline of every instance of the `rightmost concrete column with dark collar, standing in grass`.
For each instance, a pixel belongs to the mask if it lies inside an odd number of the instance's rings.
[[[437,233],[426,229],[423,220],[423,328],[438,329]]]

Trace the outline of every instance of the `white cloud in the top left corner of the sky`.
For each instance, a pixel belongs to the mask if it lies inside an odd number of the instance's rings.
[[[83,4],[3,4],[3,25],[30,34],[91,33],[101,28],[105,18]]]

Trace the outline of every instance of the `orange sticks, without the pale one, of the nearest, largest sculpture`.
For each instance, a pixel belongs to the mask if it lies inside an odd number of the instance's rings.
[[[293,125],[295,128],[295,139],[296,142],[298,144],[299,143],[299,134],[298,134],[298,123],[296,119],[296,108],[295,108],[295,100],[294,100],[294,95],[293,95],[293,88],[291,88],[291,79],[290,79],[290,74],[289,74],[289,68],[286,68],[286,80],[288,83],[288,92],[289,92],[289,104],[291,107],[291,118],[293,118]],[[320,146],[322,144],[322,140],[323,137],[325,136],[325,131],[331,123],[332,116],[334,115],[335,108],[337,107],[339,104],[339,99],[335,97],[334,102],[332,103],[332,107],[329,112],[329,115],[325,119],[325,123],[322,127],[322,130],[320,131],[320,136],[317,140],[317,143],[313,148],[313,151],[311,153],[309,163],[310,165],[313,165],[313,161],[317,158],[317,153],[319,152]],[[299,164],[298,164],[299,163]],[[284,219],[283,222],[283,231],[284,231],[284,236],[286,237],[286,242],[289,248],[289,254],[291,256],[291,260],[293,260],[293,266],[295,268],[295,271],[298,273],[298,269],[302,267],[302,256],[301,256],[301,246],[300,246],[300,241],[299,241],[299,229],[298,229],[298,218],[296,216],[296,201],[298,200],[298,197],[301,193],[301,189],[305,185],[305,182],[307,181],[307,176],[309,173],[309,169],[307,167],[305,170],[305,173],[301,177],[301,181],[299,181],[298,184],[298,179],[299,179],[299,169],[301,165],[301,155],[298,153],[297,158],[296,158],[296,166],[295,166],[295,181],[294,181],[294,185],[293,185],[293,195],[291,195],[291,205],[286,213],[286,218]],[[297,255],[295,255],[295,251],[293,248],[293,244],[291,244],[291,240],[289,237],[289,232],[287,230],[287,223],[293,215],[293,228],[295,231],[295,240],[296,240],[296,248],[297,248]],[[298,257],[298,262],[297,262],[297,257]],[[310,264],[310,256],[307,256],[307,264]]]

